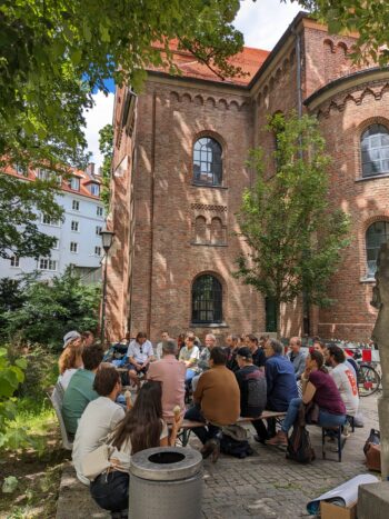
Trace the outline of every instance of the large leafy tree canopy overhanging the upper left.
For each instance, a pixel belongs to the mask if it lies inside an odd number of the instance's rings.
[[[2,0],[0,179],[13,163],[61,174],[69,166],[86,166],[83,113],[93,104],[92,92],[107,93],[107,78],[139,89],[149,66],[164,63],[177,71],[171,39],[219,76],[240,73],[228,61],[243,43],[231,24],[238,9],[238,0]],[[36,200],[31,182],[20,189],[24,202]],[[54,208],[51,189],[47,186],[40,197]],[[13,191],[1,181],[0,194],[11,204]],[[13,217],[0,211],[0,247]],[[17,230],[14,224],[13,237]],[[19,241],[36,237],[28,229]],[[32,249],[20,253],[36,256],[39,247]]]

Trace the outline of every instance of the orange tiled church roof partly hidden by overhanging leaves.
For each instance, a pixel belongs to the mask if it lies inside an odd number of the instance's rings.
[[[262,49],[253,49],[251,47],[243,47],[242,51],[238,54],[232,56],[229,62],[236,67],[240,67],[246,76],[238,76],[235,78],[221,79],[217,73],[210,70],[206,64],[199,62],[191,53],[177,50],[177,41],[173,40],[169,44],[173,51],[173,61],[180,69],[181,74],[186,78],[196,78],[207,81],[218,81],[226,84],[247,86],[258,72],[266,58],[269,56],[269,51]],[[149,67],[149,70],[168,72],[163,67],[153,68]]]

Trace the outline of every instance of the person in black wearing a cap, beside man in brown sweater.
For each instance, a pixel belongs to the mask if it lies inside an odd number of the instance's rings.
[[[252,363],[252,355],[249,348],[239,348],[237,352],[237,362],[239,370],[236,371],[240,389],[240,416],[248,418],[258,418],[266,408],[266,377],[262,370]],[[257,430],[258,420],[252,420]],[[258,432],[260,432],[259,429]]]

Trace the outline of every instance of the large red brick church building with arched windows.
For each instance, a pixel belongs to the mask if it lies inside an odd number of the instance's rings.
[[[389,70],[358,67],[352,37],[329,36],[296,17],[271,52],[245,48],[232,61],[247,76],[221,80],[177,51],[180,76],[150,70],[141,94],[117,90],[108,226],[107,329],[111,340],[146,331],[157,340],[275,330],[275,309],[232,277],[247,251],[236,213],[253,182],[248,151],[266,150],[267,117],[317,116],[332,156],[330,203],[351,217],[351,244],[323,310],[282,308],[281,330],[362,341],[370,337],[376,257],[389,237]]]

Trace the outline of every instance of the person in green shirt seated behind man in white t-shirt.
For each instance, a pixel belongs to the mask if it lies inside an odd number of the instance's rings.
[[[71,377],[63,395],[62,417],[64,427],[70,435],[76,435],[78,420],[88,403],[99,395],[93,389],[94,376],[103,357],[98,346],[90,346],[82,350],[83,368],[78,369]]]

